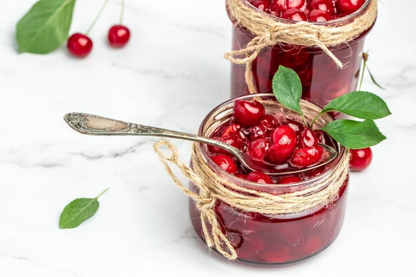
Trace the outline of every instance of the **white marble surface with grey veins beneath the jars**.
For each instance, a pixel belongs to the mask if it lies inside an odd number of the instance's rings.
[[[155,139],[91,137],[62,120],[85,111],[195,132],[229,93],[231,25],[223,0],[127,0],[132,41],[105,45],[119,16],[112,0],[92,32],[85,60],[61,49],[17,55],[15,24],[33,0],[0,3],[0,276],[410,276],[415,259],[416,56],[410,0],[384,0],[367,37],[370,66],[393,116],[372,166],[353,174],[343,231],[319,256],[270,269],[230,263],[196,238],[187,198],[153,151]],[[83,31],[102,1],[78,1],[72,31]],[[190,143],[175,141],[182,161]],[[98,213],[58,229],[62,208],[107,186]]]

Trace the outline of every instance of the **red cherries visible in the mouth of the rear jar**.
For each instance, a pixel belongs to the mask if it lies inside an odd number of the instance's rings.
[[[293,21],[324,22],[356,12],[366,0],[250,0],[262,12]]]

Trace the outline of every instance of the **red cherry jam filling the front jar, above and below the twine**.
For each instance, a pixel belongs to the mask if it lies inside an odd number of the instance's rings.
[[[268,155],[277,151],[276,156],[279,159],[274,159],[273,164],[275,166],[286,165],[285,170],[304,168],[303,163],[310,162],[309,159],[301,159],[303,156],[297,157],[299,151],[309,151],[319,146],[318,143],[335,147],[334,141],[326,133],[306,127],[300,118],[286,114],[286,110],[270,111],[261,102],[254,100],[265,95],[243,96],[226,102],[224,105],[232,108],[233,112],[226,122],[210,131],[209,136],[241,149],[258,163],[267,161],[270,159]],[[316,111],[319,110],[319,107],[312,103],[308,105]],[[221,108],[221,106],[218,107],[218,110]],[[307,114],[305,116],[311,120],[311,116]],[[215,117],[216,110],[207,116],[207,118]],[[200,135],[205,135],[204,130],[209,129],[207,118],[202,123]],[[278,145],[278,150],[273,150],[275,145]],[[326,166],[300,174],[276,177],[266,175],[261,171],[247,170],[232,155],[218,148],[200,147],[205,157],[211,159],[211,163],[208,164],[214,172],[218,172],[238,186],[272,195],[292,193],[311,186],[317,179],[324,178],[335,170],[339,162],[337,159]],[[319,159],[315,159],[311,164],[327,159],[325,153],[318,154]],[[344,148],[340,150],[340,156],[343,154],[345,154]],[[293,163],[294,157],[300,159],[302,164]],[[338,190],[338,198],[333,202],[324,206],[315,206],[301,213],[283,215],[248,213],[220,200],[216,202],[215,213],[220,222],[220,229],[236,249],[239,260],[252,265],[289,265],[319,253],[336,239],[343,226],[348,182],[347,177]],[[198,188],[193,184],[190,188],[198,193]],[[202,235],[200,213],[192,199],[189,200],[189,215],[196,233],[202,240],[205,240]]]

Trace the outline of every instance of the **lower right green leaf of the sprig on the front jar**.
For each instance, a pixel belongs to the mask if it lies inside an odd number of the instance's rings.
[[[368,148],[386,139],[373,120],[340,119],[325,125],[322,130],[349,149]]]

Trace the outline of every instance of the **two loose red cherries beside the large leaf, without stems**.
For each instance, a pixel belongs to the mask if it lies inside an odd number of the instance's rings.
[[[130,30],[123,25],[114,25],[108,31],[110,46],[120,48],[130,40]],[[76,57],[86,57],[92,51],[92,39],[88,35],[75,33],[68,39],[68,51]]]

